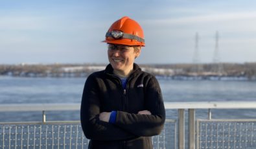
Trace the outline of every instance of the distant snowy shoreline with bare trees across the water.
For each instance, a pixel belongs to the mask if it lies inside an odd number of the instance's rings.
[[[19,64],[0,65],[0,75],[9,76],[72,76],[84,77],[104,69],[106,64]],[[179,63],[140,65],[156,76],[243,76],[256,80],[255,63]]]

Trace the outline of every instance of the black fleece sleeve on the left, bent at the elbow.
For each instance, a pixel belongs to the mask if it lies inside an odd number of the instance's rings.
[[[114,141],[135,137],[132,133],[113,124],[99,120],[99,87],[93,76],[89,76],[84,86],[80,109],[82,130],[87,139]]]

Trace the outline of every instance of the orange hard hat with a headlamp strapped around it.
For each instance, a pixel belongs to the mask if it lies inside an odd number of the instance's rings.
[[[106,40],[103,42],[117,45],[145,46],[143,29],[139,23],[126,16],[111,25],[106,33]]]

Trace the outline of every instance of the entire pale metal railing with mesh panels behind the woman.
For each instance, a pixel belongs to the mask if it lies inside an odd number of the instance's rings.
[[[165,102],[165,108],[178,109],[178,120],[167,120],[163,132],[152,137],[154,148],[256,146],[256,119],[211,119],[211,109],[256,109],[256,102]],[[45,111],[79,109],[80,104],[1,104],[0,112],[42,111],[42,119],[0,122],[0,148],[87,148],[80,121],[47,121],[45,115]],[[196,119],[196,109],[209,109],[208,119]]]

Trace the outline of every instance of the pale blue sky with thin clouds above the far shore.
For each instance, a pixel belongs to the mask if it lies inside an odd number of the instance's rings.
[[[122,16],[138,21],[137,63],[256,62],[255,1],[0,1],[0,63],[108,63],[104,35]]]

